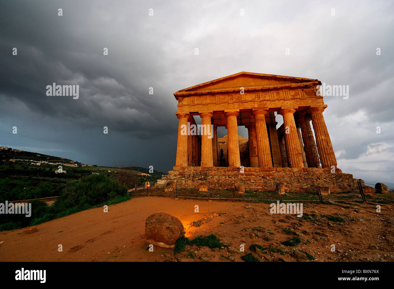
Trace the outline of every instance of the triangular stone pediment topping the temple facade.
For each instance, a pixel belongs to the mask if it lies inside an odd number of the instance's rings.
[[[192,87],[181,89],[174,93],[174,96],[185,95],[188,92],[209,92],[217,90],[232,90],[240,89],[240,87],[247,88],[262,88],[262,87],[281,87],[283,85],[292,85],[297,83],[315,83],[317,79],[289,77],[273,74],[262,74],[253,72],[238,72],[229,76],[221,77],[195,85]]]

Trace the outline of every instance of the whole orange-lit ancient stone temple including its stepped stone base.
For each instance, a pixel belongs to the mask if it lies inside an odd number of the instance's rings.
[[[176,164],[157,185],[177,180],[178,186],[192,188],[205,180],[231,188],[242,181],[245,188],[266,190],[276,182],[292,182],[306,188],[329,184],[335,191],[354,184],[352,175],[336,167],[321,84],[318,79],[239,72],[175,92]],[[279,128],[276,117],[283,119]],[[227,129],[227,150],[217,137],[221,126]],[[248,129],[247,139],[239,138],[238,126]]]

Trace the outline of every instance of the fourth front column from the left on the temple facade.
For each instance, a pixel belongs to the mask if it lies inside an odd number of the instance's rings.
[[[258,166],[260,168],[272,168],[271,151],[269,149],[269,140],[265,115],[267,110],[253,110],[252,114],[256,120],[256,138],[257,138],[257,156]]]

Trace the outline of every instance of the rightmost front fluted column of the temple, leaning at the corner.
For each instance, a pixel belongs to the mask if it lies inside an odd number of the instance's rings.
[[[315,131],[316,144],[318,146],[322,168],[331,168],[331,166],[335,166],[336,168],[333,145],[331,144],[330,135],[328,134],[327,126],[323,118],[323,111],[326,107],[327,105],[318,107],[311,105],[308,112],[312,115],[312,125]]]

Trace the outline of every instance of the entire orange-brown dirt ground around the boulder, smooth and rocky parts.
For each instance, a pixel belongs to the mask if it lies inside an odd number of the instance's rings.
[[[372,203],[304,203],[301,218],[270,214],[269,209],[265,203],[134,197],[110,205],[107,213],[94,208],[37,225],[33,234],[25,233],[26,228],[0,232],[0,260],[242,261],[241,256],[249,252],[260,261],[394,260],[392,205],[382,204],[378,213]],[[189,239],[215,234],[229,247],[186,246],[185,252],[174,255],[174,249],[154,246],[149,252],[143,237],[145,219],[156,212],[178,217]],[[329,216],[344,222],[329,220]],[[296,246],[281,244],[296,236],[301,241]],[[242,244],[244,252],[240,251]],[[267,249],[251,250],[252,244]]]

